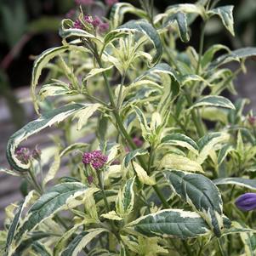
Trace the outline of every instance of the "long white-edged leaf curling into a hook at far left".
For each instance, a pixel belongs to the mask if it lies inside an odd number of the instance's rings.
[[[47,128],[54,123],[59,123],[65,118],[70,117],[72,114],[81,110],[84,106],[85,105],[82,104],[71,104],[62,106],[53,111],[48,111],[37,120],[27,123],[26,126],[13,134],[8,140],[6,149],[9,165],[14,168],[15,171],[27,172],[27,170],[31,167],[31,163],[20,162],[20,160],[15,156],[15,150],[20,143],[29,138],[31,135],[37,134],[43,130],[43,128]]]

